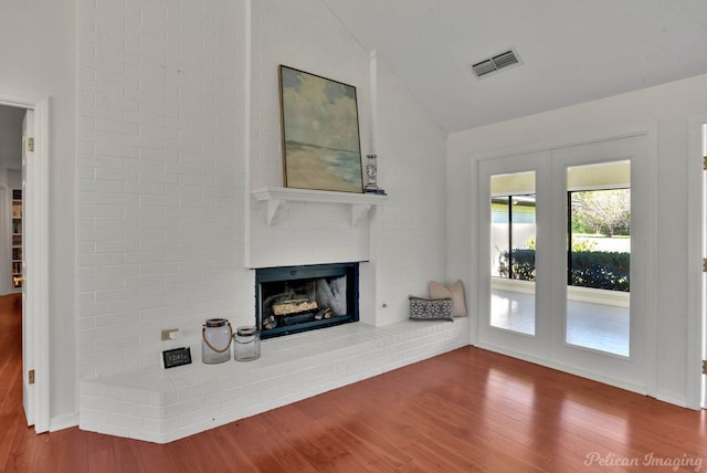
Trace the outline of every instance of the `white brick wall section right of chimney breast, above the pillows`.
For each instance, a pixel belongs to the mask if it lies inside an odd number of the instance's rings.
[[[378,182],[388,202],[377,210],[373,254],[377,320],[408,317],[408,295],[426,295],[428,282],[445,280],[444,213],[446,134],[379,61]],[[467,283],[466,281],[464,282]]]

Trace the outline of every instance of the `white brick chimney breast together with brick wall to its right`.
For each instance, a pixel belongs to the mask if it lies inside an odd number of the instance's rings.
[[[283,185],[278,64],[356,86],[361,151],[371,153],[371,54],[318,0],[252,8],[249,189]],[[264,204],[252,199],[245,259],[250,267],[368,261],[361,265],[361,319],[380,326],[405,319],[407,295],[445,277],[445,134],[383,62],[374,71],[378,176],[388,200],[358,225],[346,207],[318,203],[288,204],[282,221],[267,225]]]

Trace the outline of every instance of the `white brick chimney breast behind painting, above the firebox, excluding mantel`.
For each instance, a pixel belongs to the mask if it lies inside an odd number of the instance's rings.
[[[356,87],[361,154],[369,153],[369,61],[320,0],[252,2],[249,188],[282,187],[278,65]],[[321,41],[326,38],[326,41]],[[291,203],[268,227],[265,206],[250,206],[251,267],[365,261],[369,221],[354,227],[344,204]]]

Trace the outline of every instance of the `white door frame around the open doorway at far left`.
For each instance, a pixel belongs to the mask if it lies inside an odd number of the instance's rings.
[[[25,330],[22,340],[33,354],[34,431],[42,433],[50,427],[50,349],[49,349],[49,97],[28,97],[0,93],[0,105],[34,111],[34,165],[27,167],[25,193],[31,208],[23,218],[27,233],[23,253],[27,259]],[[25,196],[23,196],[25,197]],[[29,218],[28,218],[29,217]],[[22,374],[29,376],[27,370]]]

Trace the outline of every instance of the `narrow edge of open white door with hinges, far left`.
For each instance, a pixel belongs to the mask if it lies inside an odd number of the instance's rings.
[[[22,122],[22,217],[27,217],[27,165],[34,158],[34,112],[27,111]],[[27,273],[27,224],[22,232],[22,276]],[[34,320],[27,311],[27,284],[22,282],[22,406],[28,425],[34,424]]]

